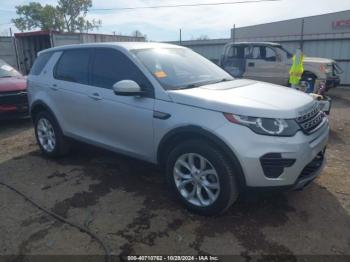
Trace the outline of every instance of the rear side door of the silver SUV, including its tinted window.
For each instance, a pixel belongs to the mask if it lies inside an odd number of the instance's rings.
[[[60,124],[68,135],[90,138],[87,127],[90,119],[86,109],[90,106],[89,63],[92,49],[65,50],[54,68],[54,80],[50,83],[55,97],[55,108]]]

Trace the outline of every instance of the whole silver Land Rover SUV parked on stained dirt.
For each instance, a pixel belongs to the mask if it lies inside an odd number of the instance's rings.
[[[73,138],[159,164],[200,214],[223,212],[247,187],[302,188],[324,165],[328,120],[310,96],[235,80],[184,47],[51,48],[28,85],[46,155],[66,154]]]

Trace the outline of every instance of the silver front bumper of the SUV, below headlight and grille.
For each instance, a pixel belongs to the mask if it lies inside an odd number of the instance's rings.
[[[305,135],[301,131],[293,137],[257,135],[250,129],[234,124],[226,124],[216,133],[231,147],[238,158],[248,187],[294,187],[305,186],[320,174],[324,166],[318,166],[305,174],[305,168],[324,152],[329,136],[328,121],[315,133]],[[293,159],[293,164],[284,167],[278,177],[268,177],[264,172],[261,157],[279,154],[283,159]],[[304,174],[304,175],[303,175]]]

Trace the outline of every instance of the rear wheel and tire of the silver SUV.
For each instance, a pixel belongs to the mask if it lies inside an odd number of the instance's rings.
[[[46,156],[60,157],[69,152],[69,142],[52,114],[46,111],[36,114],[34,127],[37,143]]]

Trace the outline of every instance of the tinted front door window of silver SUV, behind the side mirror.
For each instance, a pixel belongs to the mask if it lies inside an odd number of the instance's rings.
[[[127,56],[107,48],[95,49],[91,80],[92,85],[103,88],[112,88],[121,80],[133,80],[143,90],[152,90],[149,81]]]

